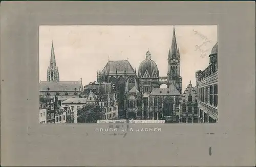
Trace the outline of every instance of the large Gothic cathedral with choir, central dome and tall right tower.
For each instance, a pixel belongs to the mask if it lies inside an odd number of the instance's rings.
[[[159,76],[157,64],[152,58],[153,55],[147,51],[137,72],[128,60],[109,61],[102,70],[98,70],[97,82],[116,86],[119,115],[126,118],[177,121],[182,77],[175,28],[168,51],[166,76]],[[166,84],[167,88],[160,88],[162,84]]]

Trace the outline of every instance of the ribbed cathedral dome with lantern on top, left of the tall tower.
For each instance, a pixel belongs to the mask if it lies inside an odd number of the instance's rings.
[[[146,71],[148,74],[145,74]],[[146,59],[142,61],[139,65],[139,77],[146,75],[146,78],[157,78],[158,77],[158,68],[155,61],[151,59],[150,51],[146,53]]]

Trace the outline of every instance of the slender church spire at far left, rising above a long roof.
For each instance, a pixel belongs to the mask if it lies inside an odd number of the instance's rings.
[[[50,66],[47,69],[47,81],[59,81],[59,71],[56,65],[53,42],[52,42]]]

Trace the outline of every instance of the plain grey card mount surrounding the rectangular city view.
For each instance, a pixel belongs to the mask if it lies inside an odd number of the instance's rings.
[[[219,122],[39,125],[39,25],[218,25]],[[1,2],[1,165],[255,165],[255,3]]]

